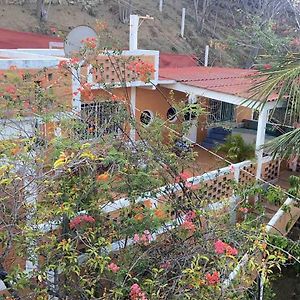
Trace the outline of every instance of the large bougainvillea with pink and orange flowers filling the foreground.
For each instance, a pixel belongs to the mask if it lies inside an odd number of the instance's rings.
[[[88,111],[72,111],[67,95],[55,95],[47,70],[11,68],[0,75],[1,118],[19,133],[4,134],[0,146],[3,297],[247,299],[245,282],[258,269],[257,255],[264,257],[267,280],[270,269],[285,261],[283,253],[266,247],[257,218],[230,223],[226,199],[221,211],[208,209],[217,200],[187,181],[194,154],[174,153],[186,128],[174,125],[166,141],[159,117],[147,127],[132,117],[122,67],[150,82],[153,66],[103,52],[97,40],[85,43],[59,64],[55,83],[67,87],[68,74],[76,77],[92,64],[87,76],[98,74],[101,93],[78,77],[79,88],[68,97],[81,93],[89,103],[104,103],[111,118],[102,124]],[[104,82],[99,52],[120,71],[121,88]],[[185,109],[178,112],[183,120]],[[51,126],[59,130],[45,134]],[[129,127],[138,141],[131,140]],[[247,268],[225,284],[246,253]]]

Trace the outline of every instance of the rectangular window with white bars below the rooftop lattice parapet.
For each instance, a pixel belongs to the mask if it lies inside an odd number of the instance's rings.
[[[81,119],[83,122],[83,139],[100,137],[106,134],[120,133],[124,118],[122,103],[102,101],[81,104]]]

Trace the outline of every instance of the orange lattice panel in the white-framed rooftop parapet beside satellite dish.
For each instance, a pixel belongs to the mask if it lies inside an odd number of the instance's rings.
[[[129,70],[132,63],[144,62],[152,64],[154,67],[154,56],[135,56],[129,58],[126,56],[99,56],[92,64],[93,82],[100,83],[120,83],[140,80],[137,73]],[[154,79],[154,72],[150,79]]]

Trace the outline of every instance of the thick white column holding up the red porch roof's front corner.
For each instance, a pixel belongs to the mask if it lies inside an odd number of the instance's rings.
[[[264,106],[259,112],[257,134],[256,134],[255,155],[257,159],[257,171],[256,171],[257,179],[261,178],[263,152],[264,152],[263,149],[261,149],[261,146],[265,143],[268,116],[269,116],[269,110],[266,106]]]

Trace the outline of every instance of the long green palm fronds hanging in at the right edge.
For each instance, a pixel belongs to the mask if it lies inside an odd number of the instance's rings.
[[[252,88],[252,97],[264,106],[270,96],[286,100],[285,121],[294,123],[294,130],[273,139],[264,148],[273,156],[300,155],[300,53],[290,53],[270,65],[264,65]],[[257,79],[257,78],[256,78]]]

